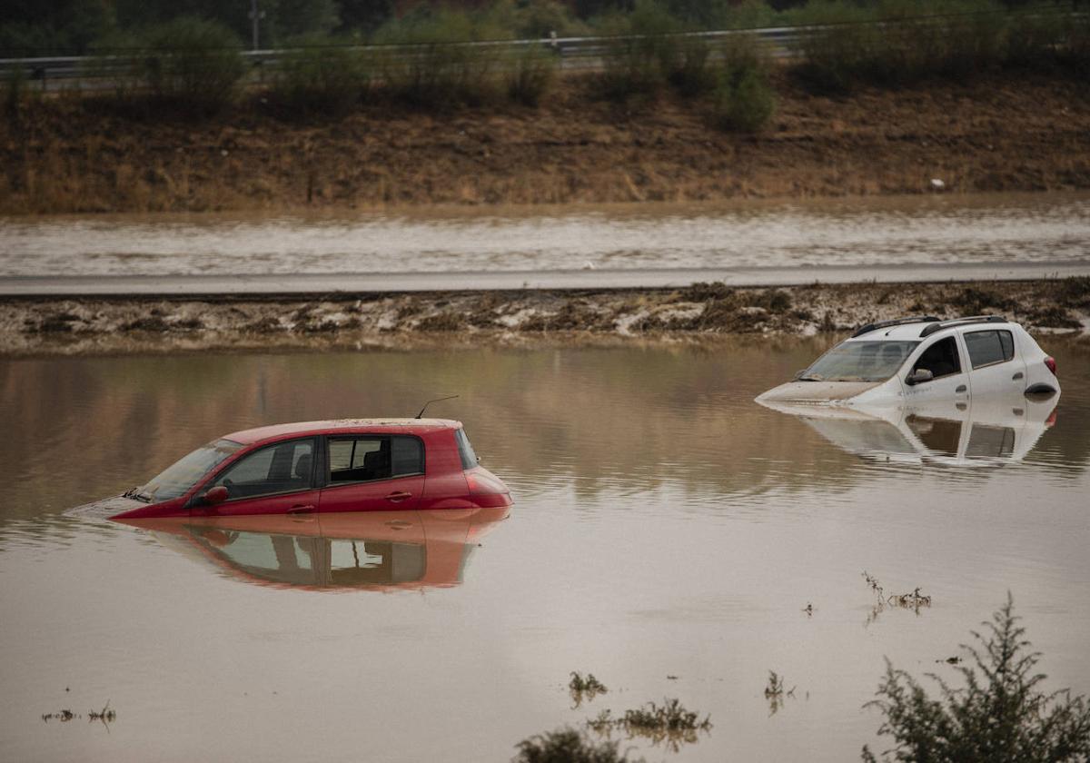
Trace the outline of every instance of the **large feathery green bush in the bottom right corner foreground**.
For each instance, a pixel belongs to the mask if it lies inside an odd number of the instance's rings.
[[[962,645],[970,665],[958,667],[964,689],[952,689],[936,676],[941,700],[932,699],[916,679],[895,670],[886,674],[876,700],[882,711],[879,735],[896,747],[886,760],[974,763],[1034,763],[1086,761],[1090,755],[1090,706],[1068,692],[1042,694],[1045,676],[1033,673],[1039,653],[1027,652],[1026,629],[1017,625],[1014,603],[1007,603],[984,622],[986,639],[973,631],[981,649]],[[979,671],[979,674],[978,674]],[[863,760],[876,761],[863,747]]]

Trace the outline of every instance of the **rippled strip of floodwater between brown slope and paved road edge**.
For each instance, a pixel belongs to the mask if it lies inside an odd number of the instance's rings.
[[[0,277],[1090,262],[1090,196],[0,221]]]

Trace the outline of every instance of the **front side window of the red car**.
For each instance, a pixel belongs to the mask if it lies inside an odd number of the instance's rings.
[[[314,486],[313,467],[313,439],[277,443],[243,456],[209,487],[226,487],[228,500],[304,491]]]

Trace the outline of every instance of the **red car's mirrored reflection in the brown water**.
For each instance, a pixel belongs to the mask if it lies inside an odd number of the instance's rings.
[[[308,591],[395,591],[462,582],[509,509],[128,520],[221,576]]]

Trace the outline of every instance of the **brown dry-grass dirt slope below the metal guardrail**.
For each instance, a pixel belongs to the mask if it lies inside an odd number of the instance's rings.
[[[567,78],[542,107],[445,116],[368,107],[286,121],[134,120],[86,97],[0,124],[0,214],[705,201],[1090,187],[1090,88],[995,75],[840,99],[779,75],[760,135],[710,107],[621,107]]]

